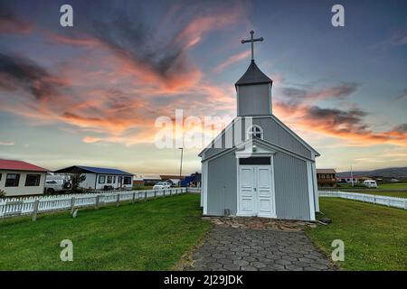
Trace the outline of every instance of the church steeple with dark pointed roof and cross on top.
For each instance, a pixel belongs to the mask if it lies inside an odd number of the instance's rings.
[[[238,117],[264,116],[272,113],[271,86],[273,81],[254,62],[253,43],[262,41],[262,37],[253,38],[253,31],[251,31],[250,40],[241,41],[241,43],[251,42],[251,64],[241,79],[235,83]]]

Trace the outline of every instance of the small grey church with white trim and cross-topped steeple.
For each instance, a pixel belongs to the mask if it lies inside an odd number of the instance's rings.
[[[315,220],[319,154],[272,114],[272,80],[251,64],[235,83],[237,117],[199,156],[206,216]]]

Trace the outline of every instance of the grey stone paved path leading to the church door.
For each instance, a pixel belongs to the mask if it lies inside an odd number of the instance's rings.
[[[214,227],[185,270],[332,270],[304,232]]]

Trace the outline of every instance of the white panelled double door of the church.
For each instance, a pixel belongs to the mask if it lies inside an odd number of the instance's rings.
[[[275,218],[271,165],[239,166],[239,216]]]

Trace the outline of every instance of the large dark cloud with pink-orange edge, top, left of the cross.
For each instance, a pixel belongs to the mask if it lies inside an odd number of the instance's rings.
[[[121,59],[140,65],[164,82],[189,79],[196,67],[187,51],[204,33],[241,21],[241,4],[233,2],[186,5],[166,3],[164,13],[145,14],[132,5],[87,5],[80,31],[59,30],[73,39],[98,40]],[[97,12],[97,13],[96,13]],[[152,19],[154,18],[154,19]]]

